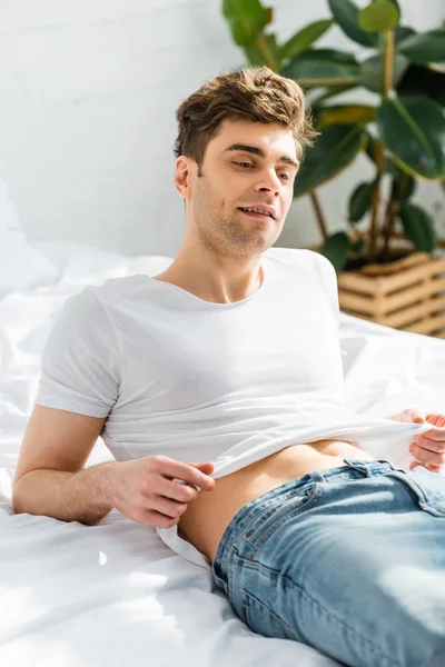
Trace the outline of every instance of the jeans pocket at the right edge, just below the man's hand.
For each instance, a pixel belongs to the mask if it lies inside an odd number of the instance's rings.
[[[416,495],[419,507],[434,517],[445,518],[445,477],[423,466],[414,470],[392,471]]]

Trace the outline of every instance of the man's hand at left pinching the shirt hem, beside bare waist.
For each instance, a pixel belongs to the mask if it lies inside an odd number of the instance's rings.
[[[211,491],[212,462],[182,464],[168,456],[116,461],[109,477],[112,507],[138,524],[171,528],[200,489]]]

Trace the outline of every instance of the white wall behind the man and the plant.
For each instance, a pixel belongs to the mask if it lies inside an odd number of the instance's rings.
[[[326,0],[265,4],[280,40],[328,16]],[[419,30],[444,18],[443,0],[402,6]],[[359,49],[337,29],[319,43]],[[244,63],[219,0],[0,0],[0,177],[28,238],[175,255],[184,229],[176,108]],[[366,158],[319,190],[333,231],[345,227],[358,171],[370,173]],[[417,199],[445,233],[438,186],[423,185]],[[319,240],[307,198],[295,201],[278,245]]]

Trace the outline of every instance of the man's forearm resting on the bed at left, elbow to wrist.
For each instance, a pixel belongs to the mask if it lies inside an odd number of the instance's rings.
[[[116,465],[107,461],[78,472],[32,470],[13,488],[13,511],[93,526],[112,509]]]

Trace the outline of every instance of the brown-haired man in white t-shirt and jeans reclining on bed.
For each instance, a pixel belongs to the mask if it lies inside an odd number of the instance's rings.
[[[66,302],[14,510],[93,525],[117,508],[210,564],[260,634],[349,665],[442,665],[445,480],[433,470],[445,419],[352,415],[334,268],[273,248],[314,137],[301,90],[244,69],[208,81],[177,119],[182,245],[156,277]],[[99,435],[117,460],[83,469]],[[434,468],[360,448],[379,437],[412,440]]]

